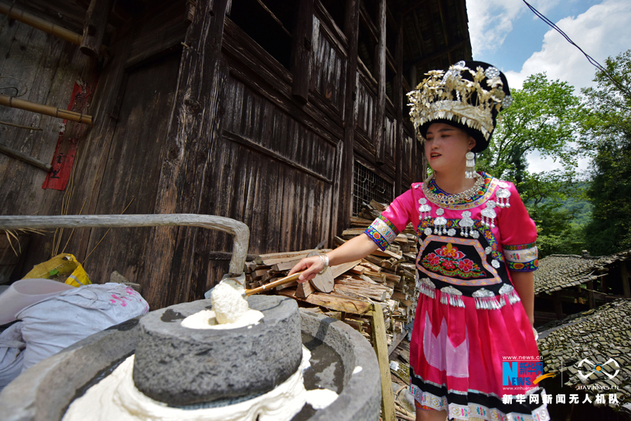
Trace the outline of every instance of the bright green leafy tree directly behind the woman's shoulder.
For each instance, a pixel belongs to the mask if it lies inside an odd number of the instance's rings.
[[[574,212],[565,201],[578,194],[576,141],[588,117],[574,87],[533,74],[511,92],[513,105],[501,112],[489,148],[480,156],[485,171],[515,183],[538,229],[540,258],[577,254],[584,248]],[[562,163],[562,170],[531,173],[527,156],[539,152]]]

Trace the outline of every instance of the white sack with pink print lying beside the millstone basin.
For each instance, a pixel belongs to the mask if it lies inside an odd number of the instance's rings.
[[[79,340],[149,311],[133,288],[122,283],[72,288],[16,314],[26,342],[24,370]]]

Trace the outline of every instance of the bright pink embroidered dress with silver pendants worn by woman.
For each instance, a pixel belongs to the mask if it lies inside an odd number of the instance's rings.
[[[506,358],[538,356],[507,270],[536,269],[536,227],[513,184],[480,175],[479,191],[462,201],[433,180],[412,185],[365,233],[382,250],[408,222],[419,236],[410,345],[417,404],[454,420],[549,420],[543,389],[503,388]],[[525,400],[508,403],[506,394]]]

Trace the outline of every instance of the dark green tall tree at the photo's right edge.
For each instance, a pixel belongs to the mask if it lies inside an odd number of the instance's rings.
[[[585,227],[592,255],[631,248],[631,50],[605,62],[595,88],[583,89],[592,113],[585,122],[590,136],[583,148],[593,154],[587,194],[592,220]]]

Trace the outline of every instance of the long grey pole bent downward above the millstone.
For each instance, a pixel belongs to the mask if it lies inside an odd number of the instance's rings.
[[[0,229],[43,229],[81,227],[170,227],[217,229],[234,237],[230,274],[243,273],[250,229],[243,222],[214,215],[168,213],[164,215],[50,215],[0,216]]]

